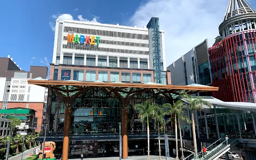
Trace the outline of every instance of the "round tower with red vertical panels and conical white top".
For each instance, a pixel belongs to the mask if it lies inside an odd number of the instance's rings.
[[[209,49],[213,97],[223,101],[255,102],[256,13],[245,1],[229,2],[219,27],[223,39]]]

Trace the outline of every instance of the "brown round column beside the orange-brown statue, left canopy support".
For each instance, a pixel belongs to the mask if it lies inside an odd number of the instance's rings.
[[[64,138],[63,138],[63,148],[62,148],[63,160],[68,160],[70,120],[71,120],[71,107],[68,107],[65,110],[65,120],[64,120]]]

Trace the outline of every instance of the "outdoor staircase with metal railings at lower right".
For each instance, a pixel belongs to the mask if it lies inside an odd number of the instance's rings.
[[[192,158],[191,160],[217,160],[219,157],[227,153],[227,151],[230,150],[230,147],[235,146],[237,143],[237,139],[219,139],[206,148],[206,154],[201,151],[201,153],[199,153],[196,157]],[[189,160],[190,158],[185,159]]]

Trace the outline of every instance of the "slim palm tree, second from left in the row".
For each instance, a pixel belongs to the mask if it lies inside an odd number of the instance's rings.
[[[158,147],[159,147],[159,160],[161,160],[161,143],[160,143],[160,127],[165,126],[165,119],[164,116],[166,115],[166,108],[158,106],[156,108],[156,115],[154,117],[155,122],[157,123],[158,127]]]

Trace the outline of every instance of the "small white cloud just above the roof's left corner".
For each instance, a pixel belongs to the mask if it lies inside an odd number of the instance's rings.
[[[73,18],[73,16],[71,14],[68,13],[64,13],[64,14],[52,14],[51,16],[53,19],[59,19],[60,21],[62,20],[76,20]],[[99,23],[98,20],[100,19],[97,16],[94,16],[94,18],[92,20],[88,20],[86,18],[83,18],[83,15],[77,15],[77,21],[84,21],[84,22],[94,22],[94,23]],[[55,22],[49,22],[49,26],[51,27],[51,29],[53,31],[55,31]]]

